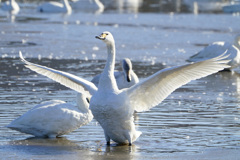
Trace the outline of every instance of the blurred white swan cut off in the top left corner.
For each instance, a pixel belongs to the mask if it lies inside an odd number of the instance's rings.
[[[20,7],[15,0],[6,1],[1,5],[1,9],[4,11],[8,11],[11,14],[17,14],[20,11]]]

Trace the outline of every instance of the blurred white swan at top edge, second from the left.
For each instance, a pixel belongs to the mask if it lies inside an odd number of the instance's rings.
[[[39,12],[46,12],[46,13],[71,13],[72,8],[68,3],[68,0],[62,0],[62,3],[59,2],[45,2],[41,4],[37,10]]]

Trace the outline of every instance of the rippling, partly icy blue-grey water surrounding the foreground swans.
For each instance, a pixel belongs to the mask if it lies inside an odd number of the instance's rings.
[[[18,58],[66,71],[87,80],[100,73],[105,44],[95,35],[115,37],[117,66],[133,61],[143,79],[185,60],[214,41],[233,41],[240,33],[238,15],[191,13],[40,14],[33,4],[16,17],[0,12],[0,126],[36,104],[75,101],[76,92],[25,68]],[[69,135],[38,139],[0,128],[1,159],[239,159],[240,71],[221,72],[177,89],[157,107],[137,113],[142,131],[133,146],[105,145],[93,120]]]

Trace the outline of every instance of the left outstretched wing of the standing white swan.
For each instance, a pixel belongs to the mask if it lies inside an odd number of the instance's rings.
[[[25,66],[32,71],[42,74],[60,84],[71,88],[77,92],[84,93],[86,95],[93,95],[97,91],[97,87],[92,83],[83,78],[77,77],[67,72],[58,71],[52,68],[34,64],[25,60],[22,56],[21,51],[19,57],[26,64]]]

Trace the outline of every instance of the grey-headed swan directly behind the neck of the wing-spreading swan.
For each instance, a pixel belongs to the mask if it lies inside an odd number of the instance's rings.
[[[91,82],[98,86],[101,75],[96,75]],[[129,88],[139,82],[138,76],[132,70],[132,62],[128,58],[122,60],[122,71],[115,71],[114,77],[117,81],[118,89]]]

